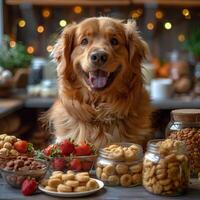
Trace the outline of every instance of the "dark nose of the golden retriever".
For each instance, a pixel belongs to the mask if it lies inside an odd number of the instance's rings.
[[[101,66],[108,60],[108,54],[105,51],[93,51],[90,54],[92,64]]]

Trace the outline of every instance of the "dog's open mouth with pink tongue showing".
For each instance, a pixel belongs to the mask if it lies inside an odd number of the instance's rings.
[[[120,68],[121,66],[118,66],[114,72],[106,72],[100,69],[88,73],[84,72],[86,82],[93,90],[103,90],[111,85]]]

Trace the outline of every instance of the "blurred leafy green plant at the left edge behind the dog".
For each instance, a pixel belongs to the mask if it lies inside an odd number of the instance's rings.
[[[28,67],[32,56],[26,52],[25,46],[16,42],[16,45],[11,48],[9,42],[9,37],[4,36],[0,48],[0,66],[7,69]]]

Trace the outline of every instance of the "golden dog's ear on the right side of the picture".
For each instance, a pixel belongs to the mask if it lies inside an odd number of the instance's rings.
[[[124,26],[130,63],[138,62],[140,64],[143,60],[148,59],[148,45],[140,37],[134,20],[128,20]]]

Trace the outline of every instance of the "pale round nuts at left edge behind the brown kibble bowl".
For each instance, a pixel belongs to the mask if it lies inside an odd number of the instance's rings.
[[[17,140],[15,136],[7,134],[0,135],[0,156],[18,156],[19,152],[17,152],[13,146]]]

